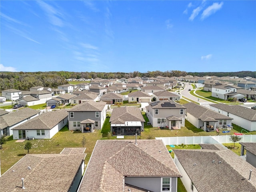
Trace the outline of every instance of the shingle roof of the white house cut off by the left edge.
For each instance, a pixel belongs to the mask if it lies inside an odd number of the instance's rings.
[[[12,111],[6,115],[0,116],[0,129],[14,126],[15,124],[31,118],[32,116],[35,116],[39,113],[40,111],[28,107],[21,110]]]

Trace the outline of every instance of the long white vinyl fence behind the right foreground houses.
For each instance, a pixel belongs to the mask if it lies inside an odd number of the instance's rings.
[[[256,142],[256,135],[240,135],[242,139],[239,142]],[[180,144],[222,144],[232,143],[229,140],[230,135],[219,136],[192,136],[192,137],[156,137],[157,140],[163,140],[165,145]]]

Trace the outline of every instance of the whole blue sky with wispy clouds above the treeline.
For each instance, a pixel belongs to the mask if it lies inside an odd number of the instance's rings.
[[[256,71],[256,1],[0,2],[0,71]]]

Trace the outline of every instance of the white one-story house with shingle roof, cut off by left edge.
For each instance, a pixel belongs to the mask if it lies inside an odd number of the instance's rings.
[[[0,116],[0,135],[12,135],[12,128],[38,116],[40,111],[25,107]]]

